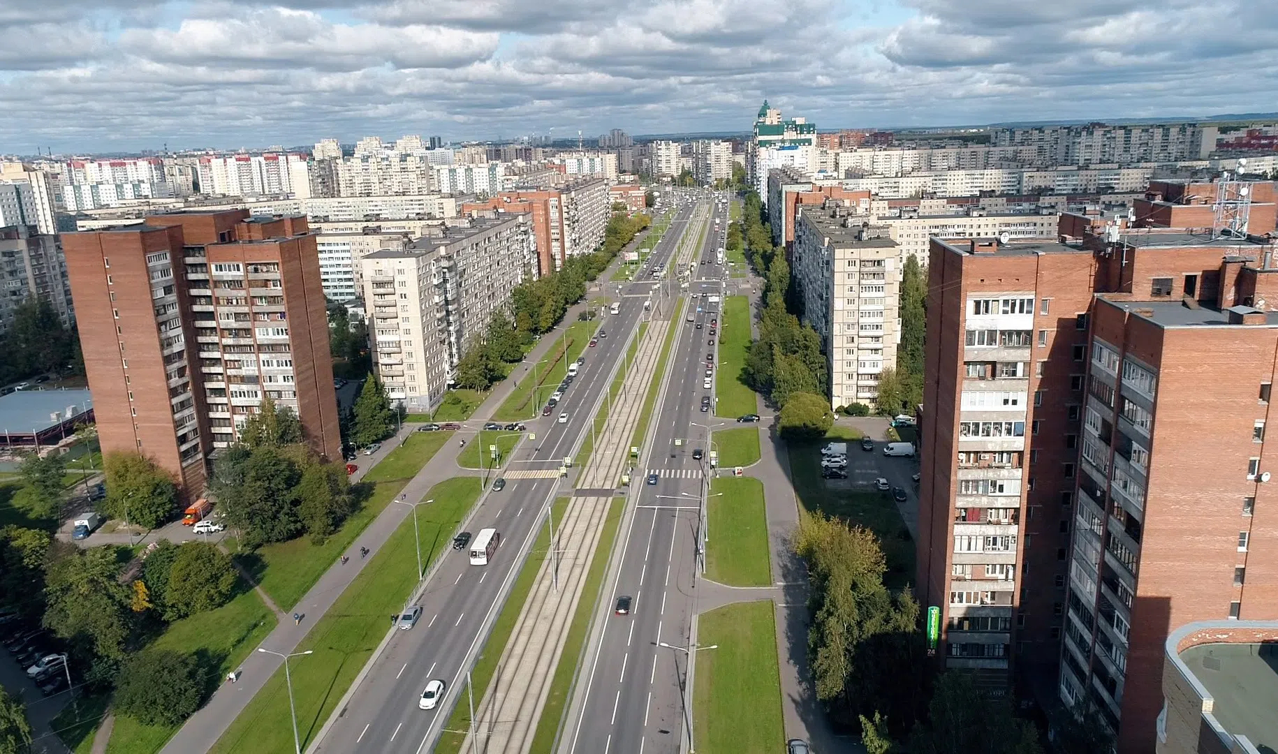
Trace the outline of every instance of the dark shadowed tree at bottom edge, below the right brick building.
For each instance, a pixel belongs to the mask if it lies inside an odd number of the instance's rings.
[[[1034,726],[1002,699],[983,696],[971,675],[943,672],[928,704],[928,722],[910,731],[910,754],[1042,754]]]

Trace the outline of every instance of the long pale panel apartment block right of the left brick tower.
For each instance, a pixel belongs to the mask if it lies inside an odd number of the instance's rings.
[[[478,217],[360,265],[377,374],[391,400],[432,410],[470,340],[535,275],[537,256],[532,222],[514,213]]]

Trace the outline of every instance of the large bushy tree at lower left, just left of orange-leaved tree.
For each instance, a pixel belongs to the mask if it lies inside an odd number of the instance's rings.
[[[96,654],[121,657],[132,594],[116,580],[119,574],[111,546],[72,552],[50,564],[45,627]]]

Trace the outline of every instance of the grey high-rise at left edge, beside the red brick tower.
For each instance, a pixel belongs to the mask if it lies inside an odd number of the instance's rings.
[[[47,300],[64,326],[75,323],[58,236],[33,225],[0,226],[0,332],[13,323],[14,309],[31,298]]]

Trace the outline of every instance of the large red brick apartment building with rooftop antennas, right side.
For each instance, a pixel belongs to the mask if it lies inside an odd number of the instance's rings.
[[[1168,633],[1278,617],[1278,250],[1061,226],[930,242],[919,597],[939,665],[1151,753]]]

